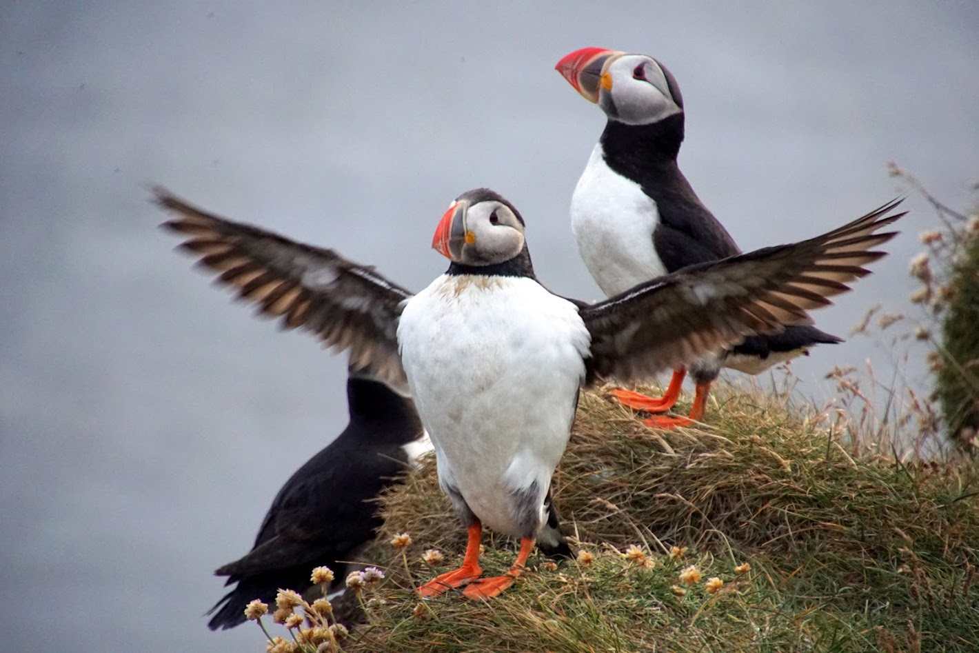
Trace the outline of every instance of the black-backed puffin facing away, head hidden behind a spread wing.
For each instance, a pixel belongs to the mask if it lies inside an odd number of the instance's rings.
[[[376,499],[432,450],[407,387],[378,381],[370,368],[347,379],[350,423],[286,481],[272,499],[248,554],[214,572],[236,586],[210,609],[210,630],[244,624],[253,599],[275,600],[280,587],[315,590],[310,573],[326,565],[340,592],[350,561],[381,526]],[[315,598],[315,597],[314,597]]]

